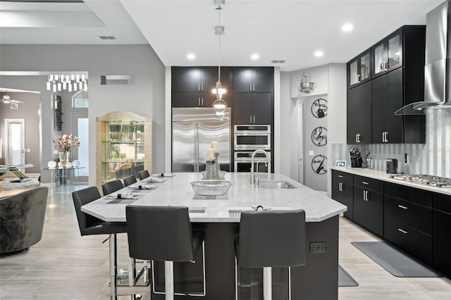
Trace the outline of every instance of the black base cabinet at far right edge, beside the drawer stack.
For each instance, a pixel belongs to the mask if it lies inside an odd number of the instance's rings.
[[[434,268],[451,278],[451,196],[433,194],[433,254]]]

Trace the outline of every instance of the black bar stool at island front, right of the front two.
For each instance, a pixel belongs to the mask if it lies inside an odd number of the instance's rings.
[[[235,254],[237,266],[263,268],[264,300],[272,299],[271,268],[288,267],[291,299],[290,268],[305,265],[306,260],[305,212],[302,209],[242,212]]]

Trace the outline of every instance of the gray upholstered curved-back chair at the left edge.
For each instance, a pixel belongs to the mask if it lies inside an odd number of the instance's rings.
[[[25,250],[41,240],[48,192],[37,187],[0,199],[0,254]]]

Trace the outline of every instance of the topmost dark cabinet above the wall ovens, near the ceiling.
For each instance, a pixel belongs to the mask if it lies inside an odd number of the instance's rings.
[[[274,92],[274,68],[233,68],[233,92]]]

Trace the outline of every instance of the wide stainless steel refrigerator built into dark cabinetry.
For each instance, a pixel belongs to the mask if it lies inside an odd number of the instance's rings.
[[[172,171],[205,170],[206,149],[218,142],[221,170],[230,172],[230,108],[223,121],[214,108],[172,108]]]

